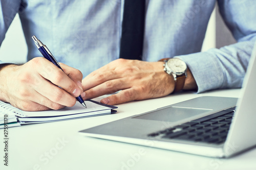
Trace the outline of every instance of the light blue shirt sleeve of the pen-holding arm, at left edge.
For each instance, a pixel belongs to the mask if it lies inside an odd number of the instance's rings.
[[[0,2],[0,47],[5,39],[5,34],[10,27],[13,18],[20,11],[21,0],[1,0]],[[3,57],[1,57],[3,58]],[[0,64],[4,62],[0,60]]]

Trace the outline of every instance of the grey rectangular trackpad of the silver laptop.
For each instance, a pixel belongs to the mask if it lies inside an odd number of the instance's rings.
[[[197,108],[182,108],[182,107],[168,107],[160,110],[155,110],[150,113],[145,113],[133,118],[159,120],[165,122],[177,122],[179,120],[192,117],[211,109],[197,109]]]

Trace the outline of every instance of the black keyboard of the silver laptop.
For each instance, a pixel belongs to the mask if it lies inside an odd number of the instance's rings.
[[[235,108],[210,114],[184,124],[148,134],[167,139],[221,144],[226,140]]]

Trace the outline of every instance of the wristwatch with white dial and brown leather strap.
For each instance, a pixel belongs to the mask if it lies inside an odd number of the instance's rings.
[[[173,92],[178,92],[183,89],[185,79],[187,77],[187,65],[184,61],[178,58],[164,58],[163,61],[164,71],[168,75],[173,75],[175,81],[175,89]]]

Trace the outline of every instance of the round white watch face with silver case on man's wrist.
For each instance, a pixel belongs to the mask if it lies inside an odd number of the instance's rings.
[[[183,74],[187,69],[186,63],[177,58],[169,59],[167,61],[166,65],[167,65],[167,67],[169,67],[171,72],[173,72],[177,75]]]

